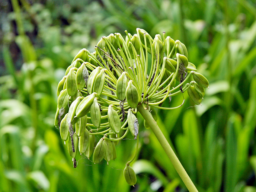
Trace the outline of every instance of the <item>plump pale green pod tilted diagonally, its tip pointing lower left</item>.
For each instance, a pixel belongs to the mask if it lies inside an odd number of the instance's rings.
[[[75,114],[77,118],[83,117],[90,112],[96,93],[92,93],[85,97],[78,105]]]

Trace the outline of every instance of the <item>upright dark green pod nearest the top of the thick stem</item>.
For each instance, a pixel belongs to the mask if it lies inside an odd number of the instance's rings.
[[[133,81],[130,80],[128,82],[128,86],[125,91],[126,100],[130,107],[136,108],[139,103],[139,93],[136,89],[136,87],[133,85]]]

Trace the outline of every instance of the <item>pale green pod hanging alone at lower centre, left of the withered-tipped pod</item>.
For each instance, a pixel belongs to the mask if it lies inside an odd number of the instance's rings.
[[[121,122],[119,119],[119,115],[117,112],[113,109],[112,105],[109,105],[108,111],[107,111],[107,119],[110,126],[110,129],[114,134],[118,134],[121,130]]]

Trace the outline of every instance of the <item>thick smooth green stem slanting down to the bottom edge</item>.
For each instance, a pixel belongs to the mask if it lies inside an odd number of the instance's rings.
[[[158,127],[157,123],[153,119],[152,115],[150,114],[149,110],[145,110],[142,107],[142,105],[139,105],[137,107],[137,109],[140,112],[140,114],[142,115],[142,117],[146,120],[146,122],[150,126],[151,130],[155,134],[156,138],[158,139],[159,143],[161,144],[161,146],[165,150],[165,153],[167,154],[167,156],[171,160],[171,163],[173,164],[174,168],[176,169],[176,171],[180,175],[182,181],[187,186],[187,189],[190,192],[198,192],[197,188],[195,187],[195,185],[193,184],[193,182],[189,178],[187,172],[185,171],[185,169],[181,165],[181,162],[179,161],[179,159],[175,155],[174,151],[171,149],[171,146],[169,145],[168,141],[165,139],[164,134],[162,133],[162,131]]]

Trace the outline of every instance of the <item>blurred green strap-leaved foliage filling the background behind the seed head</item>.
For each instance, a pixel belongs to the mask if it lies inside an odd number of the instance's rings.
[[[210,82],[202,106],[158,110],[158,125],[200,192],[255,192],[256,1],[1,1],[0,191],[186,191],[155,136],[139,119],[141,143],[117,145],[117,159],[78,167],[54,127],[56,87],[76,53],[101,36],[143,28],[187,46]],[[174,97],[171,106],[181,103]],[[168,102],[164,103],[168,105]]]

